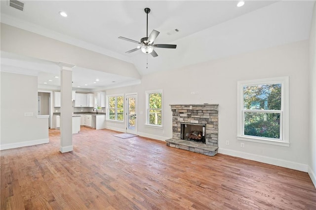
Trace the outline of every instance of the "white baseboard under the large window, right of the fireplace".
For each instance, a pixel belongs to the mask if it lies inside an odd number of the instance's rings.
[[[225,155],[231,155],[231,156],[235,156],[235,157],[240,157],[240,158],[248,159],[248,160],[254,160],[254,161],[267,163],[267,164],[271,164],[271,165],[275,165],[275,166],[280,166],[280,167],[284,167],[284,168],[294,169],[294,170],[298,170],[301,172],[308,172],[308,165],[306,165],[306,164],[295,163],[295,162],[290,162],[290,161],[286,161],[286,160],[250,154],[250,153],[244,153],[244,152],[239,152],[239,151],[230,150],[230,149],[219,148],[218,153],[225,154]]]

